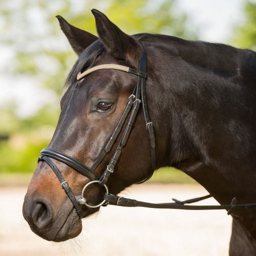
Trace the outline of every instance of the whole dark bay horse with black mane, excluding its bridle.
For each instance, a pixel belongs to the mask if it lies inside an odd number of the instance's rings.
[[[108,142],[132,94],[137,77],[98,70],[77,81],[80,71],[103,64],[137,70],[143,46],[147,61],[146,98],[154,121],[156,168],[174,166],[204,186],[220,203],[256,202],[256,53],[222,44],[174,36],[129,36],[104,14],[92,10],[99,38],[57,16],[78,55],[67,80],[61,114],[49,148],[91,166]],[[141,44],[141,45],[140,45]],[[117,142],[120,140],[118,136]],[[95,172],[101,176],[115,152]],[[143,111],[135,119],[115,172],[107,181],[112,194],[143,181],[151,172]],[[78,199],[89,182],[69,165],[52,160]],[[95,185],[91,205],[102,201]],[[82,206],[83,218],[99,208]],[[256,255],[255,209],[234,210],[230,255]],[[82,223],[49,165],[40,161],[23,205],[33,232],[49,241],[78,236]]]

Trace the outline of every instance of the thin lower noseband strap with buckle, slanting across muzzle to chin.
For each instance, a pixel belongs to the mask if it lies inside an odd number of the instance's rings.
[[[74,205],[76,209],[76,213],[79,215],[80,219],[83,217],[82,208],[80,207],[79,203],[76,201],[76,198],[74,194],[71,191],[71,188],[69,187],[69,184],[60,174],[58,168],[55,166],[55,164],[48,158],[47,156],[40,156],[38,161],[44,160],[46,161],[50,167],[53,169],[53,172],[56,174],[57,178],[59,179],[59,182],[61,183],[61,187],[65,190],[66,194],[68,195],[69,199],[71,200],[72,204]]]

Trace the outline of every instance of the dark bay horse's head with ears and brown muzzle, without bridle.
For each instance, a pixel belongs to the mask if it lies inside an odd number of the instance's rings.
[[[67,78],[68,89],[61,99],[59,121],[48,146],[86,166],[92,166],[100,157],[120,118],[123,116],[126,119],[127,100],[133,100],[134,103],[136,98],[132,95],[138,80],[135,74],[143,52],[137,39],[122,32],[101,12],[92,10],[92,13],[99,38],[57,16],[78,60]],[[116,69],[93,69],[101,65],[126,67],[134,70],[135,74]],[[83,74],[90,69],[94,72],[77,79],[79,72]],[[115,172],[106,182],[112,194],[118,194],[124,188],[145,180],[152,172],[143,119],[140,110]],[[125,126],[120,129],[116,145],[121,140]],[[115,147],[108,150],[102,161],[95,166],[98,177],[103,175],[115,151]],[[52,159],[52,164],[57,166],[56,172],[68,181],[73,192],[70,197],[74,195],[76,200],[81,197],[81,190],[90,179],[56,159]],[[81,219],[62,188],[52,168],[45,161],[39,161],[25,197],[23,215],[31,229],[46,240],[65,241],[78,236],[82,230]],[[86,191],[87,203],[99,204],[103,200],[101,190],[99,186],[90,185]],[[98,210],[99,207],[82,205],[80,217],[86,218]]]

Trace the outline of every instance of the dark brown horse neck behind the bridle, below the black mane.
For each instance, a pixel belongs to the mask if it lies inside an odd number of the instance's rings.
[[[158,120],[158,167],[182,170],[221,204],[230,204],[234,197],[238,204],[255,203],[256,125],[246,107],[256,112],[247,97],[255,95],[255,89],[245,88],[243,79],[234,82],[236,77],[190,65],[172,54],[148,49],[147,56],[148,93],[154,99],[148,106],[153,122]],[[254,220],[252,212],[234,214],[251,229],[246,223]],[[256,238],[256,227],[251,231]]]

